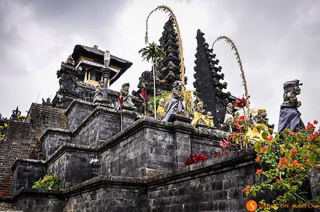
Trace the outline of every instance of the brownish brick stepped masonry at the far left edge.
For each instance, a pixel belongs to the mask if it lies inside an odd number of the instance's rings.
[[[25,122],[10,120],[6,139],[0,142],[0,197],[9,196],[13,172],[11,167],[16,158],[29,158],[35,151],[35,142],[47,127],[65,128],[65,110],[31,104]]]

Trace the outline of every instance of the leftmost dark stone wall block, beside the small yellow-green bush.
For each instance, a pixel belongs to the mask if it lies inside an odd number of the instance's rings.
[[[15,194],[20,188],[32,188],[35,181],[44,177],[47,167],[44,161],[19,159],[13,165],[13,186],[11,193]]]

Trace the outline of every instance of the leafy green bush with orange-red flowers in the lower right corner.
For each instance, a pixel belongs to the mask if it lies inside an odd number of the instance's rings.
[[[315,203],[320,199],[307,199],[305,183],[310,174],[320,169],[320,130],[308,123],[305,130],[291,132],[289,129],[274,136],[262,133],[262,139],[255,140],[256,162],[260,165],[256,174],[262,183],[248,185],[243,193],[257,195],[262,190],[275,192],[271,206],[257,211],[277,211],[279,204]]]

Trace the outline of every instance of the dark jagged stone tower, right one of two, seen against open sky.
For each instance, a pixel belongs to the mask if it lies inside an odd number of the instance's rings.
[[[225,117],[225,107],[235,97],[230,92],[223,92],[227,88],[227,83],[222,83],[224,74],[221,73],[222,67],[218,66],[219,60],[215,59],[216,54],[212,54],[213,49],[209,49],[209,44],[203,38],[205,33],[200,29],[197,31],[197,53],[195,54],[195,82],[193,86],[200,93],[205,110],[214,115],[214,123],[223,123]],[[217,126],[217,124],[216,124]]]

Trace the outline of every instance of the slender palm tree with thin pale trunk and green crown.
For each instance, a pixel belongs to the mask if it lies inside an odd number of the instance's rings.
[[[153,72],[153,91],[154,91],[154,119],[157,119],[156,113],[156,75],[154,74],[155,67],[157,67],[159,60],[165,58],[166,54],[164,51],[154,42],[149,44],[147,47],[140,49],[139,54],[143,57],[143,60],[152,63],[152,72]]]

